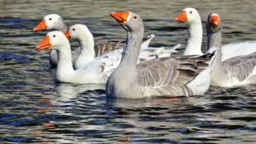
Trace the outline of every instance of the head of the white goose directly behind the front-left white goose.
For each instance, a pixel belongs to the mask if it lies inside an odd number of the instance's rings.
[[[83,24],[75,24],[70,27],[68,31],[65,33],[68,39],[79,39],[81,41],[89,41],[89,39],[93,39],[93,35],[91,31],[89,31],[88,27]]]

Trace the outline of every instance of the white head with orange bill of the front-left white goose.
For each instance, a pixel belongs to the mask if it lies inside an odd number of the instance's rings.
[[[47,33],[43,41],[37,45],[37,51],[45,49],[62,50],[65,45],[69,45],[68,39],[61,31],[51,31]]]

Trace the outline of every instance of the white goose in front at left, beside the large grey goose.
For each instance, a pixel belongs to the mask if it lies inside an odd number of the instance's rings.
[[[43,41],[37,45],[37,51],[53,49],[58,51],[58,67],[55,73],[56,82],[65,83],[106,83],[109,75],[113,72],[112,65],[119,63],[116,56],[106,55],[99,57],[93,62],[87,63],[77,70],[72,66],[72,54],[70,43],[62,31],[47,33]]]

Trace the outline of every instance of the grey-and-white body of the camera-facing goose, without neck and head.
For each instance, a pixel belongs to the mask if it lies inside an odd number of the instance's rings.
[[[213,69],[212,86],[231,87],[256,83],[256,52],[230,58],[217,65]],[[220,67],[221,71],[218,69]]]

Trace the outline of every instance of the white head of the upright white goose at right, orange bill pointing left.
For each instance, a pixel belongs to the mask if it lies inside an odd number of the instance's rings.
[[[198,10],[194,8],[186,8],[183,9],[181,14],[175,18],[175,21],[185,22],[187,24],[192,24],[195,22],[201,23],[201,18]]]

